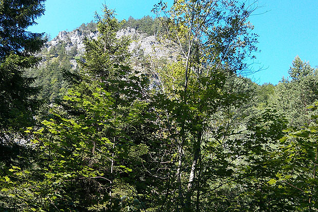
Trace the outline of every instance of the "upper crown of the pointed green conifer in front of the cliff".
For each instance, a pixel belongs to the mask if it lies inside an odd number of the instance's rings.
[[[100,33],[97,40],[86,38],[85,54],[79,65],[82,66],[82,76],[85,83],[95,86],[95,83],[105,79],[116,78],[118,70],[129,72],[128,38],[116,38],[116,32],[121,24],[114,17],[114,11],[105,10],[103,17],[96,15],[97,30]],[[122,73],[121,73],[122,74]],[[93,84],[91,84],[93,83]]]

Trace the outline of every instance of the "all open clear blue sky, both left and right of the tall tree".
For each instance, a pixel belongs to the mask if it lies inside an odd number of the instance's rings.
[[[29,28],[55,37],[59,31],[71,31],[94,18],[94,12],[102,13],[103,4],[115,9],[118,19],[129,16],[141,18],[152,15],[156,0],[47,0],[46,12],[37,20],[38,25]],[[166,0],[170,5],[173,0]],[[250,76],[263,84],[278,83],[288,76],[292,60],[299,55],[302,60],[318,66],[318,0],[259,0],[260,9],[250,17],[259,34],[261,50],[256,53],[254,70],[264,70]],[[264,13],[265,12],[265,13]],[[260,14],[259,14],[260,13]],[[263,14],[261,14],[263,13]],[[259,15],[256,15],[259,14]]]

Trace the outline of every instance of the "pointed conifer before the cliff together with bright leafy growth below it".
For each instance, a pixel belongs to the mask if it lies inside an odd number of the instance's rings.
[[[0,201],[5,208],[125,211],[143,207],[135,194],[136,181],[142,177],[132,171],[141,169],[134,165],[141,166],[141,156],[148,149],[144,118],[148,80],[127,66],[129,40],[116,37],[121,24],[114,11],[105,8],[104,12],[97,16],[98,38],[85,40],[80,80],[61,102],[64,110],[61,105],[53,107],[43,128],[34,134],[39,153],[34,166],[12,167],[0,179],[5,184],[0,197],[8,199]]]

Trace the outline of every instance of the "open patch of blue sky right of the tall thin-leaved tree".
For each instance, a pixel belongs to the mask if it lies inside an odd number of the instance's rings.
[[[264,6],[251,16],[254,32],[259,34],[256,61],[266,70],[254,74],[256,82],[276,84],[288,70],[296,55],[318,66],[318,1],[259,0]],[[256,68],[256,66],[255,66]]]

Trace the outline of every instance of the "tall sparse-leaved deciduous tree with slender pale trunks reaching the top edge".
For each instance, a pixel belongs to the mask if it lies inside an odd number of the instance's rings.
[[[248,71],[244,59],[253,57],[250,53],[256,50],[257,36],[249,33],[253,27],[247,20],[254,9],[235,1],[205,0],[174,1],[170,10],[161,2],[154,8],[158,15],[164,14],[167,37],[180,47],[182,58],[168,72],[158,73],[172,88],[172,95],[162,89],[166,98],[158,103],[164,105],[162,134],[171,151],[164,153],[165,162],[173,161],[163,167],[169,170],[165,175],[171,181],[167,195],[161,197],[167,211],[171,207],[175,211],[208,210],[205,194],[214,190],[211,183],[231,181],[234,160],[229,157],[232,144],[226,142],[226,135],[233,118],[231,109],[248,97],[244,79],[236,74]],[[174,70],[177,77],[171,73]]]

